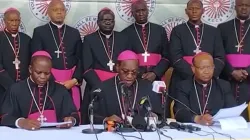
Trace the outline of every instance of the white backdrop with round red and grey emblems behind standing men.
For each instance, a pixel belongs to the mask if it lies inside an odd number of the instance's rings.
[[[115,30],[121,31],[133,22],[131,0],[63,0],[67,8],[66,23],[77,28],[82,37],[94,32],[96,16],[100,9],[108,7],[116,16]],[[168,35],[172,28],[187,20],[185,7],[188,0],[146,0],[150,21],[165,27]],[[205,13],[203,22],[217,26],[234,17],[235,0],[202,0]],[[32,36],[33,29],[49,20],[46,11],[50,0],[0,0],[0,30],[4,28],[3,13],[9,7],[21,12],[20,31]]]

